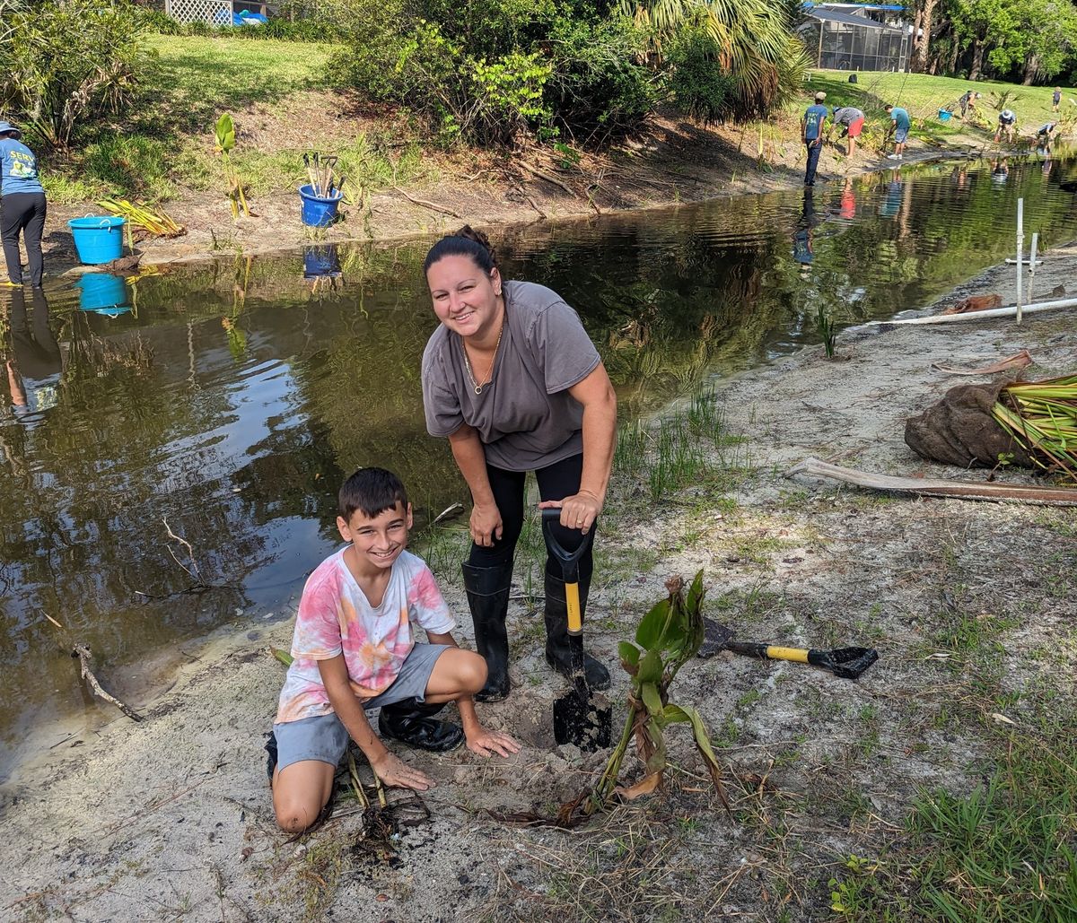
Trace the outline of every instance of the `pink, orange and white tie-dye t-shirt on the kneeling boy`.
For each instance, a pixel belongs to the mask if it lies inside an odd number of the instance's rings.
[[[411,651],[409,616],[436,635],[456,626],[422,558],[402,552],[393,562],[381,605],[374,607],[348,570],[345,551],[347,546],[323,560],[303,588],[278,724],[333,711],[319,661],[344,652],[352,692],[361,699],[374,698],[392,685]]]

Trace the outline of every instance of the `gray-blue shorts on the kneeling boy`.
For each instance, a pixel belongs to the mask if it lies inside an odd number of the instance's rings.
[[[423,701],[434,664],[449,648],[449,644],[417,643],[393,684],[381,695],[364,701],[363,708],[380,708],[406,698]],[[348,749],[348,730],[333,711],[275,724],[272,732],[277,737],[277,771],[303,759],[318,759],[336,766]]]

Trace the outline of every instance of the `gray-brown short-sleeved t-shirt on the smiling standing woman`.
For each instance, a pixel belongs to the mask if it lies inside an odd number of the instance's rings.
[[[481,394],[464,367],[463,341],[444,324],[422,354],[422,402],[431,436],[466,423],[486,459],[533,471],[584,451],[584,408],[569,394],[601,359],[579,316],[561,296],[532,282],[505,282],[505,326],[493,380]]]

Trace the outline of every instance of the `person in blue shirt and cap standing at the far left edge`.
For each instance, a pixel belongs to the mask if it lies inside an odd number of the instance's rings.
[[[0,122],[0,239],[8,264],[8,284],[23,284],[18,253],[22,232],[30,284],[40,288],[44,272],[41,235],[45,229],[45,190],[38,178],[38,158],[18,140],[22,137],[23,132],[10,122]]]

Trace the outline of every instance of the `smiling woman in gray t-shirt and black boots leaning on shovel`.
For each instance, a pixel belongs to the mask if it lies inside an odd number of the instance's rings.
[[[555,538],[574,552],[605,501],[617,399],[576,312],[557,293],[503,280],[486,236],[462,228],[426,255],[426,283],[442,322],[422,357],[426,429],[448,437],[471,488],[472,548],[463,565],[475,643],[489,679],[476,696],[508,695],[505,614],[513,554],[523,526],[524,475],[535,472],[540,508],[560,508]],[[586,613],[591,548],[579,562]],[[568,604],[557,560],[546,557],[546,661],[571,677]],[[610,685],[586,657],[587,683]]]

